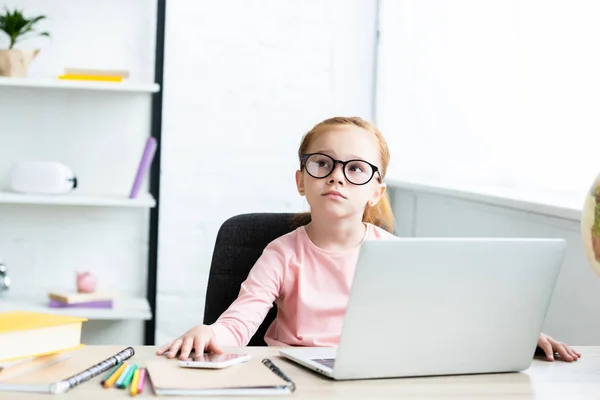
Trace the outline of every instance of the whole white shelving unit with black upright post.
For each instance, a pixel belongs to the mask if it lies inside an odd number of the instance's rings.
[[[68,3],[31,6],[49,16],[55,39],[28,41],[41,49],[28,77],[0,77],[0,259],[11,279],[0,310],[86,317],[88,344],[154,344],[166,3],[113,2],[109,11],[101,2]],[[128,22],[105,32],[103,16],[115,13]],[[130,78],[58,79],[67,68],[127,70]],[[149,137],[159,147],[130,199]],[[11,192],[7,174],[25,160],[65,164],[78,187],[65,195]],[[94,273],[98,290],[121,300],[113,309],[47,307],[48,288],[74,290],[77,271]]]

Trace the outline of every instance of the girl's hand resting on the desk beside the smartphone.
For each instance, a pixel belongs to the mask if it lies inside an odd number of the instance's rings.
[[[174,358],[177,352],[181,349],[179,359],[185,360],[189,357],[192,349],[196,354],[204,354],[212,352],[222,354],[223,351],[219,348],[215,340],[215,333],[212,328],[207,325],[198,325],[184,333],[181,337],[161,346],[156,355],[163,355],[167,352],[167,358]]]

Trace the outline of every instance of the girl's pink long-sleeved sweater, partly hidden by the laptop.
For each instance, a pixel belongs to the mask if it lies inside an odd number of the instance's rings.
[[[367,224],[364,240],[395,238]],[[316,246],[304,226],[272,241],[212,325],[220,346],[246,346],[273,302],[278,315],[269,346],[337,346],[360,245],[346,251]]]

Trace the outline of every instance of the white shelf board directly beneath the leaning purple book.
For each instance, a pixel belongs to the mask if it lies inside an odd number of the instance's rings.
[[[97,207],[137,207],[153,208],[156,201],[149,193],[135,199],[117,196],[83,196],[68,195],[30,195],[13,192],[0,192],[0,204],[38,204],[63,206],[97,206]]]

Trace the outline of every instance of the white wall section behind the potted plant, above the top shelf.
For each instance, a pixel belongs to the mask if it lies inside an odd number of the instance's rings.
[[[128,69],[131,80],[153,82],[156,0],[7,0],[26,17],[45,15],[40,31],[51,38],[24,40],[16,48],[40,48],[30,77],[56,77],[65,67]],[[0,34],[0,48],[8,39]]]

